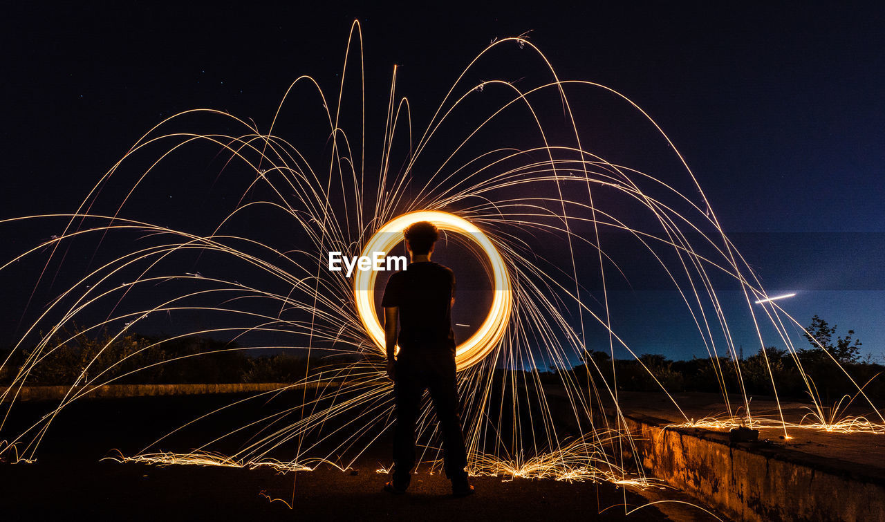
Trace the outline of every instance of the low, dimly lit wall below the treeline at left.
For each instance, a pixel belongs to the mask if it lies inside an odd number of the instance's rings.
[[[273,382],[260,383],[236,383],[236,384],[106,384],[104,386],[84,387],[76,386],[71,392],[70,386],[26,386],[20,390],[12,388],[6,394],[8,388],[0,387],[0,397],[3,402],[12,401],[59,401],[68,392],[70,395],[79,395],[83,392],[83,398],[122,398],[144,397],[160,395],[206,395],[206,394],[240,394],[250,392],[263,392],[278,390],[292,386]],[[296,388],[296,387],[293,387]],[[297,387],[299,389],[304,387]]]

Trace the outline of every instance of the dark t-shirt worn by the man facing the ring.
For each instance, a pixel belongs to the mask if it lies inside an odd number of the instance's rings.
[[[455,273],[432,261],[412,263],[390,276],[384,288],[383,307],[399,307],[401,355],[455,356],[451,330],[451,298],[455,296]]]

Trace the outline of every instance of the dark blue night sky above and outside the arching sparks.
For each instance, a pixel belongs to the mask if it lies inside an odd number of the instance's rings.
[[[7,6],[0,218],[74,211],[135,140],[179,111],[215,108],[265,130],[298,75],[335,90],[353,19],[365,38],[366,98],[376,105],[370,142],[394,64],[421,127],[489,41],[531,31],[560,77],[617,89],[658,121],[769,293],[797,293],[782,303],[787,311],[805,324],[820,314],[839,334],[853,328],[863,354],[881,362],[885,5],[708,4]],[[605,107],[587,125],[633,132]],[[645,159],[614,139],[586,148],[625,165]],[[210,184],[216,174],[201,175]],[[175,196],[157,190],[157,200]],[[3,230],[4,259],[48,236],[37,226]],[[0,284],[5,344],[28,291],[2,273]],[[704,356],[688,327],[643,326],[666,324],[666,289],[635,290],[648,307],[620,311],[635,349]],[[724,308],[738,302],[727,292],[723,300]],[[733,326],[735,344],[755,351],[748,325]]]

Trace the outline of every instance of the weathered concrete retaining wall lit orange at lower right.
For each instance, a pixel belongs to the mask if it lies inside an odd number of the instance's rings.
[[[627,418],[643,465],[737,520],[885,520],[885,472],[728,434]]]

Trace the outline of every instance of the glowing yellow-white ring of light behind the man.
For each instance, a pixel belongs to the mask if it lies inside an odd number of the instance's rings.
[[[506,265],[504,265],[504,258],[501,257],[494,243],[491,242],[486,234],[483,234],[470,221],[443,211],[414,211],[391,219],[384,226],[381,226],[381,229],[366,243],[362,255],[372,256],[373,252],[384,252],[387,255],[397,243],[404,241],[404,229],[418,221],[430,221],[440,230],[466,235],[489,257],[494,296],[489,309],[489,315],[485,321],[482,322],[482,325],[470,338],[458,344],[458,348],[455,351],[455,363],[458,366],[458,371],[464,370],[479,363],[484,357],[489,355],[492,349],[495,349],[497,343],[504,337],[512,310],[510,275],[507,272]],[[359,319],[383,354],[384,328],[378,320],[373,297],[373,289],[375,288],[377,277],[378,273],[373,270],[357,271],[354,280],[354,298],[357,303]]]

